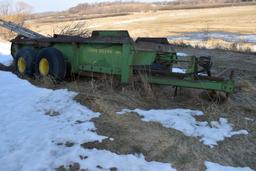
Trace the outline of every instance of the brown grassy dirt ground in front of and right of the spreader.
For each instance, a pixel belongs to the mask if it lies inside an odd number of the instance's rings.
[[[173,98],[171,87],[153,86],[151,91],[141,85],[120,86],[109,79],[92,81],[80,78],[80,81],[58,85],[42,84],[35,80],[31,82],[43,87],[77,91],[79,95],[76,99],[80,103],[102,113],[99,118],[94,119],[97,133],[114,140],[82,144],[84,148],[108,149],[118,154],[142,153],[149,161],[172,163],[178,171],[203,171],[206,160],[256,169],[256,55],[223,50],[176,49],[197,56],[212,56],[214,74],[233,68],[236,93],[226,102],[216,104],[202,98],[200,90],[182,89],[178,97]],[[229,71],[222,75],[228,74]],[[211,149],[199,142],[198,138],[187,137],[177,130],[164,128],[159,123],[143,122],[134,113],[116,115],[123,108],[180,107],[203,110],[206,115],[198,117],[198,120],[228,118],[236,130],[247,129],[249,135],[226,138]]]

